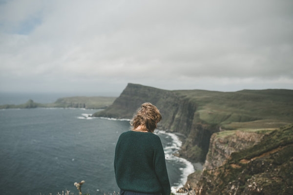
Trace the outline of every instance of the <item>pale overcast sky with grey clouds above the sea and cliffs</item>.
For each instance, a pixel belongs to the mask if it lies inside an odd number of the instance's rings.
[[[0,92],[293,89],[293,0],[0,0]]]

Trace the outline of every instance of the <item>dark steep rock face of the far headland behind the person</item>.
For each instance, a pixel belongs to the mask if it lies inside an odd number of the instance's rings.
[[[159,129],[179,132],[188,137],[180,156],[197,162],[205,160],[209,138],[215,130],[208,124],[201,124],[196,114],[196,104],[177,91],[128,84],[109,108],[93,116],[130,119],[144,102],[150,102],[160,109],[163,120],[158,123]]]

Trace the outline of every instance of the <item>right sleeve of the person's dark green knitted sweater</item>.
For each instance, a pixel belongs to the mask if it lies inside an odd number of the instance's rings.
[[[165,153],[160,138],[154,155],[155,173],[162,187],[162,195],[170,195],[171,187],[167,173]]]

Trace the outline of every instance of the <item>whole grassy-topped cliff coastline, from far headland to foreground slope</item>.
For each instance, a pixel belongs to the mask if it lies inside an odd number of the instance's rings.
[[[203,171],[188,176],[190,192],[293,194],[293,90],[169,91],[128,84],[94,116],[130,119],[144,102],[160,109],[159,129],[185,135],[180,156],[205,162]]]

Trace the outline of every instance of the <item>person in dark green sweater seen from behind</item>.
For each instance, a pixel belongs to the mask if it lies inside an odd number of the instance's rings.
[[[170,195],[164,149],[154,134],[161,120],[158,108],[144,103],[130,122],[131,130],[119,136],[114,170],[121,195]]]

